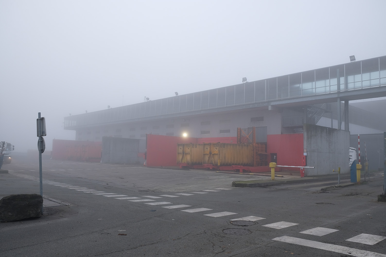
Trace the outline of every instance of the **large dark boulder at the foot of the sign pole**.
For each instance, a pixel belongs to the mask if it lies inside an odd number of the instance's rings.
[[[8,195],[0,199],[0,222],[41,217],[43,198],[37,194]]]

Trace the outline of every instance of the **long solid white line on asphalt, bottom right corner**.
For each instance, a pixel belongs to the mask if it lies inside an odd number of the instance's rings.
[[[317,241],[312,240],[306,240],[306,239],[300,239],[296,237],[288,237],[284,235],[283,237],[275,237],[275,241],[285,242],[289,244],[295,244],[295,245],[303,245],[308,246],[316,249],[326,250],[330,252],[337,252],[340,254],[347,254],[350,256],[356,256],[356,257],[386,257],[386,254],[379,254],[377,252],[369,252],[365,250],[340,246],[340,245],[333,245],[333,244],[326,244],[321,243]]]

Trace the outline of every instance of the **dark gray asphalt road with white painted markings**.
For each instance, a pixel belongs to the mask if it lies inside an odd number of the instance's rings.
[[[3,168],[0,197],[39,193],[36,162]],[[256,178],[43,160],[43,194],[70,205],[0,223],[0,256],[386,256],[382,176],[327,192],[334,181],[231,186]]]

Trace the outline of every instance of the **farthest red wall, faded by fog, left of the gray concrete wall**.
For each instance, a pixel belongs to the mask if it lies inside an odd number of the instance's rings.
[[[100,162],[102,142],[52,139],[52,159]]]

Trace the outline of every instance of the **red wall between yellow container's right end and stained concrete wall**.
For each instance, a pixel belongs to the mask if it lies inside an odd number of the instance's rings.
[[[302,166],[303,134],[267,135],[268,163],[271,153],[277,153],[277,165]],[[300,168],[283,168],[284,170],[299,170]]]

